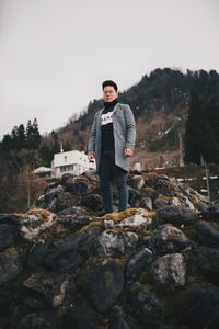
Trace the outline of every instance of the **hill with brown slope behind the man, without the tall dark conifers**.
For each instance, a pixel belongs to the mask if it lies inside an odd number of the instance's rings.
[[[132,163],[142,169],[178,163],[180,139],[184,139],[191,93],[196,90],[209,103],[219,103],[219,75],[211,70],[183,73],[171,68],[155,69],[150,76],[119,93],[119,101],[130,105],[137,122],[137,144]],[[87,150],[89,132],[102,100],[93,100],[85,113],[73,116],[57,131],[72,148]]]

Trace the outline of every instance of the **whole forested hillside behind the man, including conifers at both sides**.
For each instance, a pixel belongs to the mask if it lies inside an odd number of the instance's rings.
[[[201,159],[219,163],[219,75],[215,70],[183,73],[155,69],[119,93],[119,101],[132,109],[137,143],[131,166],[142,169],[177,166],[180,160],[199,164]],[[87,150],[89,132],[102,100],[92,100],[84,112],[46,136],[37,120],[18,123],[0,143],[0,211],[13,211],[34,201],[38,185],[33,169],[49,166],[54,154]],[[181,152],[180,152],[181,149]],[[31,195],[30,195],[31,191]],[[28,200],[28,202],[27,202]]]

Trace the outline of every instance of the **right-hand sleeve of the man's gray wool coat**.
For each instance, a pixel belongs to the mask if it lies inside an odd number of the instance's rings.
[[[132,111],[129,105],[126,105],[124,109],[124,117],[126,125],[126,144],[125,147],[135,149],[136,144],[136,122],[134,118]]]

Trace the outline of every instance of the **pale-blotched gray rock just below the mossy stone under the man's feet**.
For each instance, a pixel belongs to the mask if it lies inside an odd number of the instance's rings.
[[[138,236],[135,232],[127,231],[116,234],[105,230],[99,237],[99,253],[102,256],[122,257],[136,248]]]

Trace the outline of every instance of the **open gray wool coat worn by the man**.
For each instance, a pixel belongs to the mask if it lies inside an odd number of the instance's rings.
[[[96,112],[90,132],[88,154],[95,155],[96,171],[101,160],[101,115],[104,109]],[[134,149],[136,141],[136,123],[129,105],[117,103],[113,111],[113,132],[115,140],[115,163],[129,171],[129,158],[124,156],[126,147]]]

